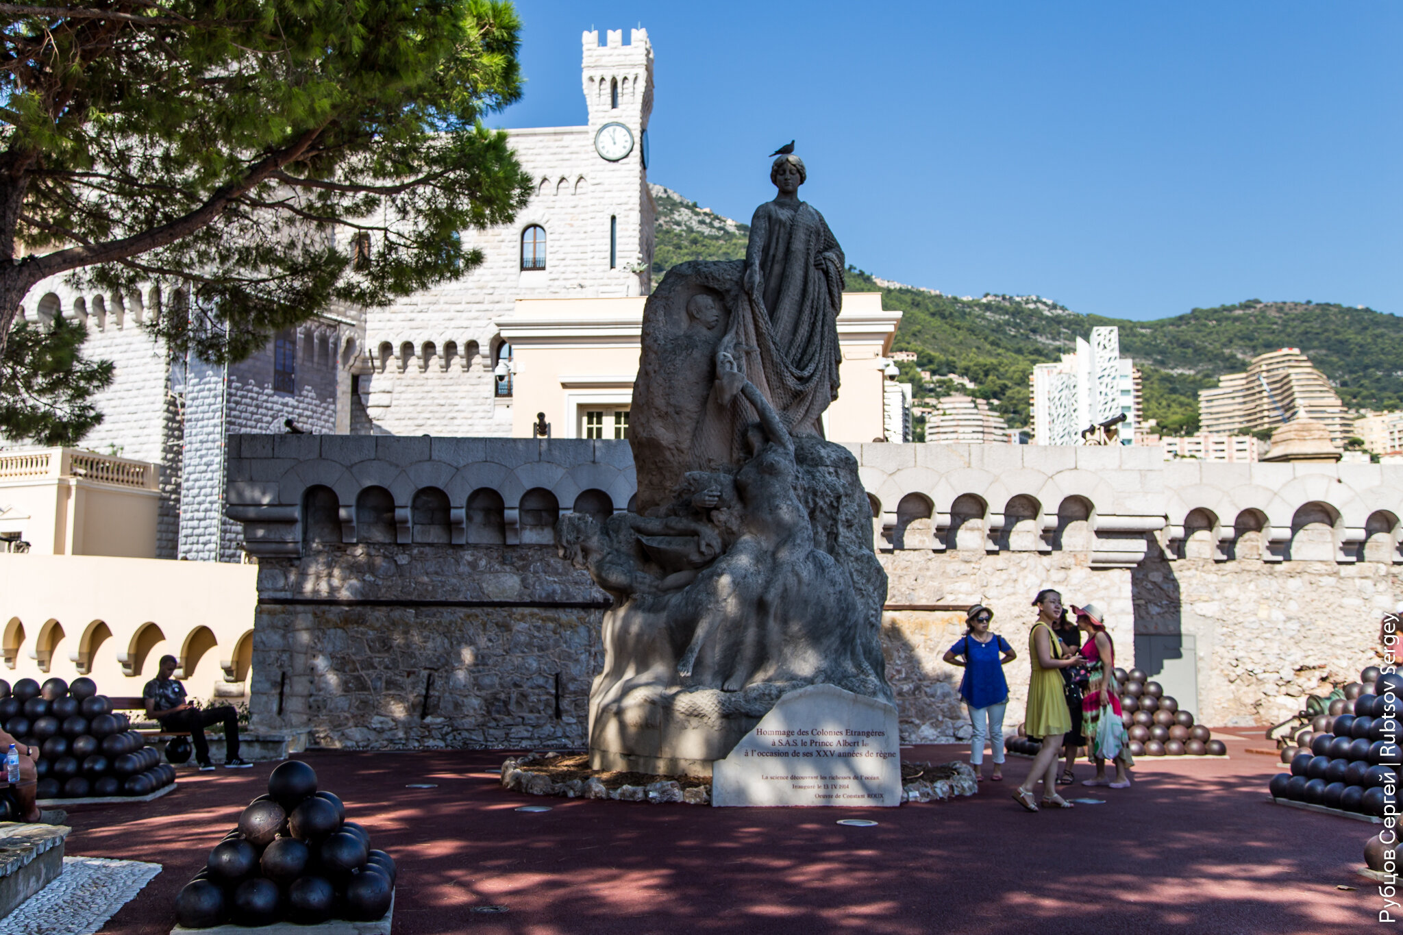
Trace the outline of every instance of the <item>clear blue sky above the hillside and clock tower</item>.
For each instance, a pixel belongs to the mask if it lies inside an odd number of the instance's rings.
[[[526,95],[490,123],[584,123],[581,31],[641,22],[650,181],[749,220],[797,139],[801,196],[880,276],[1127,318],[1403,313],[1403,3],[516,7]]]

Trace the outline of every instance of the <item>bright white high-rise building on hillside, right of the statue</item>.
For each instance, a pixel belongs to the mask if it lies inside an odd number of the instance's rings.
[[[1118,328],[1092,328],[1092,341],[1058,363],[1040,363],[1030,377],[1034,444],[1083,444],[1083,433],[1118,415],[1121,444],[1134,444],[1141,421],[1139,371],[1121,356]]]

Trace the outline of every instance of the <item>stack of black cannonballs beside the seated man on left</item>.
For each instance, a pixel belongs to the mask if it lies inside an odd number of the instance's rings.
[[[41,799],[150,795],[175,782],[175,768],[97,694],[91,678],[49,678],[42,685],[0,680],[0,723],[18,743],[39,749]],[[0,754],[4,751],[0,750]]]

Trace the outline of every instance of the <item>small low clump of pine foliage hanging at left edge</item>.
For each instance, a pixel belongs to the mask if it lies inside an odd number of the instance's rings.
[[[21,321],[0,357],[0,435],[43,446],[74,446],[102,422],[91,398],[112,383],[111,360],[87,360],[87,325]]]

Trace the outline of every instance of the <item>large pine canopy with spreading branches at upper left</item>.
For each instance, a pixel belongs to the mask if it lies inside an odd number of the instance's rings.
[[[481,116],[521,97],[498,0],[6,3],[0,352],[24,294],[70,272],[182,289],[149,327],[241,359],[341,304],[481,262],[530,179]]]

